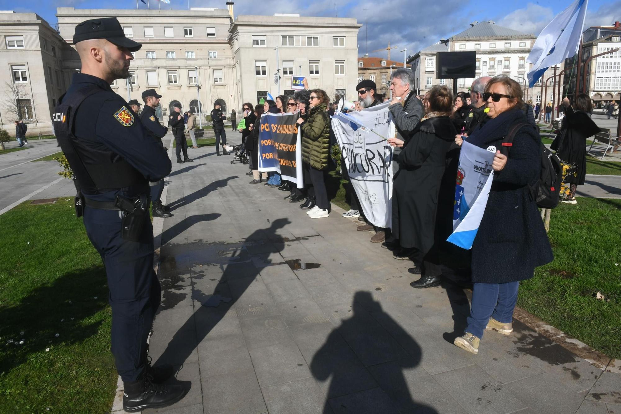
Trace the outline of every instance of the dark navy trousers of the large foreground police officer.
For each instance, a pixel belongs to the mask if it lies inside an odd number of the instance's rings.
[[[84,227],[106,267],[116,368],[122,380],[133,382],[144,370],[147,337],[161,300],[153,271],[153,226],[147,217],[140,241],[127,241],[120,237],[119,211],[87,206]]]

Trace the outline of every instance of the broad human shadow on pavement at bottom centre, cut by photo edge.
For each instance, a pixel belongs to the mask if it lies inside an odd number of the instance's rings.
[[[315,379],[324,382],[332,377],[324,414],[437,414],[432,407],[415,401],[416,396],[412,395],[410,387],[416,387],[416,384],[408,385],[404,375],[404,370],[420,364],[422,351],[415,339],[382,309],[381,303],[374,300],[370,292],[356,292],[351,311],[351,318],[343,320],[340,326],[332,330],[310,364]],[[363,362],[367,361],[365,365],[368,368],[363,369],[364,372],[355,374],[356,364],[348,362],[348,358],[343,356],[343,339]],[[380,363],[369,364],[371,360]],[[367,369],[381,390],[367,385],[364,391],[350,391],[343,395],[343,389],[348,388],[348,383],[358,380],[353,375],[363,377],[368,374]]]

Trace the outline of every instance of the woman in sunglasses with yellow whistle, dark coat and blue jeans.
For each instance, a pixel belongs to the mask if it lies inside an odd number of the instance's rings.
[[[472,246],[473,294],[465,334],[456,346],[478,353],[486,330],[510,335],[520,280],[532,278],[535,267],[553,259],[548,235],[532,200],[529,185],[537,182],[541,169],[541,138],[527,124],[522,111],[522,88],[508,76],[487,82],[483,95],[489,121],[477,127],[466,140],[496,153],[490,166],[494,178],[487,206]],[[502,147],[502,139],[516,124],[513,145]],[[461,145],[463,140],[456,138]],[[509,148],[507,155],[499,149]]]

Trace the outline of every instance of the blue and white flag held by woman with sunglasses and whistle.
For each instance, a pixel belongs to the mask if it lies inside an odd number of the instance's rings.
[[[463,249],[471,249],[481,218],[487,205],[489,188],[494,179],[492,162],[496,147],[487,150],[468,144],[461,144],[460,163],[455,184],[455,205],[453,207],[453,234],[449,241]]]

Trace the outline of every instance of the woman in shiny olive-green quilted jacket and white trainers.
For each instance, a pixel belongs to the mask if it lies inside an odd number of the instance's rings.
[[[311,110],[308,120],[297,120],[302,129],[304,181],[311,185],[307,202],[300,208],[309,209],[307,214],[311,218],[325,218],[330,215],[330,201],[325,189],[325,173],[330,157],[330,117],[326,112],[329,102],[325,91],[312,90],[309,96]]]

